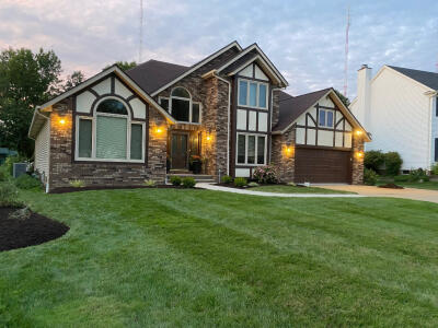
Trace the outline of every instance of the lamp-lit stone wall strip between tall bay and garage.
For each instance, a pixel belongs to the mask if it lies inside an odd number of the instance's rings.
[[[272,164],[279,172],[281,181],[293,181],[295,174],[295,128],[289,128],[284,134],[273,134]],[[292,151],[288,153],[287,148]]]

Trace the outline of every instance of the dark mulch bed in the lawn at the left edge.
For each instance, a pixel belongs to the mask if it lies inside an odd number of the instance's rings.
[[[16,208],[0,208],[0,251],[39,245],[59,238],[68,232],[64,223],[37,213],[28,219],[9,219]]]

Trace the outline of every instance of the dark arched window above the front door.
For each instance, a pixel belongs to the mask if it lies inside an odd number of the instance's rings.
[[[160,97],[159,103],[178,121],[200,122],[200,103],[193,102],[191,94],[184,87],[175,87],[170,98]]]

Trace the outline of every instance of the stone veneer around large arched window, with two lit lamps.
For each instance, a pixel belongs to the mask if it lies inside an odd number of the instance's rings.
[[[59,125],[59,119],[66,120]],[[157,127],[165,127],[165,118],[149,107],[148,164],[130,163],[74,163],[72,149],[72,98],[53,107],[50,115],[50,175],[49,190],[69,187],[69,181],[80,179],[85,185],[128,186],[141,185],[145,179],[165,180],[166,128],[157,134]]]

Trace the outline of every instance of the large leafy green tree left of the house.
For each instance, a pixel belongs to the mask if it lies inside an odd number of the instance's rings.
[[[7,49],[0,54],[0,144],[31,156],[27,137],[34,108],[59,90],[61,61],[53,50]]]

